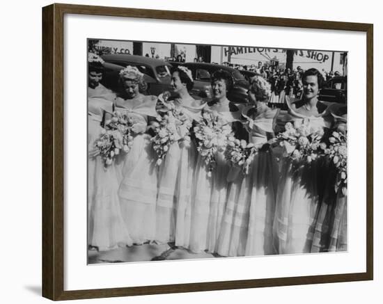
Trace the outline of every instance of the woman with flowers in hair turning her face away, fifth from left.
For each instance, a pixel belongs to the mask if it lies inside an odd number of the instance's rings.
[[[243,175],[232,168],[228,178],[235,177],[229,186],[228,200],[219,235],[218,253],[223,256],[269,255],[275,250],[272,243],[274,220],[276,163],[268,148],[274,137],[274,118],[278,109],[267,106],[271,95],[269,83],[263,77],[251,79],[249,102],[242,110],[247,118],[248,141],[258,150],[249,173]],[[237,173],[237,174],[235,174]]]

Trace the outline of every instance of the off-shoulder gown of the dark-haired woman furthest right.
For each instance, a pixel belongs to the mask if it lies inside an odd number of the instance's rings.
[[[325,127],[325,112],[307,117],[291,106],[289,112],[292,122],[308,120],[309,127]],[[274,218],[274,240],[279,254],[311,252],[320,207],[319,168],[317,160],[296,167],[290,159],[283,160]]]

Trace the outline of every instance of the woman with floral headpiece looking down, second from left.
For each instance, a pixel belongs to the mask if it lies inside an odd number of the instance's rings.
[[[146,131],[148,118],[157,115],[157,97],[141,93],[146,90],[143,74],[130,65],[120,71],[120,85],[120,95],[115,99],[116,111],[132,120],[134,138],[130,152],[120,155],[118,196],[130,237],[133,243],[142,244],[155,239],[157,168]]]

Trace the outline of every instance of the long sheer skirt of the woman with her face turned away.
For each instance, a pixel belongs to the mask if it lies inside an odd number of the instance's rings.
[[[218,242],[223,256],[276,253],[272,229],[278,170],[271,151],[258,152],[249,173],[230,183]]]

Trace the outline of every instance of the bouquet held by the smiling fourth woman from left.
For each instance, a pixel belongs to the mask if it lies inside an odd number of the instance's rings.
[[[208,166],[208,175],[217,166],[217,152],[224,152],[231,127],[216,111],[204,111],[194,127],[197,150]]]

